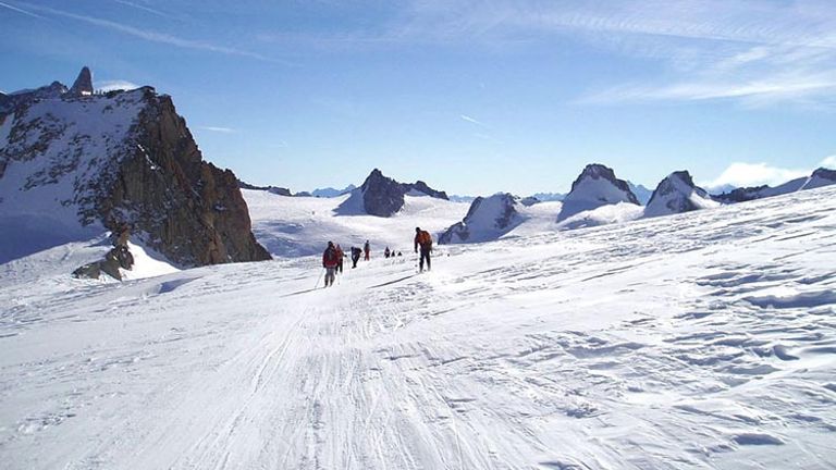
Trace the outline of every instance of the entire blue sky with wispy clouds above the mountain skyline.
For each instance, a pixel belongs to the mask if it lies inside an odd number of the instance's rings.
[[[836,166],[832,0],[0,0],[0,89],[170,94],[254,184],[564,191]]]

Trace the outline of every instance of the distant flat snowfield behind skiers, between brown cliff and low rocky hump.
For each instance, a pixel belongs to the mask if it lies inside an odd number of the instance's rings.
[[[357,193],[334,198],[285,197],[247,189],[242,194],[249,208],[253,233],[276,257],[319,255],[329,240],[340,244],[346,252],[352,245],[362,246],[367,239],[372,256],[382,256],[385,247],[411,252],[416,226],[437,238],[437,232],[460,221],[469,207],[466,202],[407,195],[399,212],[379,218],[362,212],[362,198]],[[335,215],[336,208],[349,198],[360,206],[342,209],[354,215]]]

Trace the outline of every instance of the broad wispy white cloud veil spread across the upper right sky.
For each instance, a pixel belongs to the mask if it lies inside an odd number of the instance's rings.
[[[382,37],[495,44],[570,40],[660,62],[663,73],[590,90],[580,103],[808,102],[836,90],[831,0],[416,0]]]

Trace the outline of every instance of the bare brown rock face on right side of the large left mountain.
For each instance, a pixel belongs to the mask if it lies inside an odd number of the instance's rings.
[[[170,97],[145,92],[138,145],[99,205],[106,225],[143,231],[151,248],[181,264],[270,259],[232,171],[202,160]]]

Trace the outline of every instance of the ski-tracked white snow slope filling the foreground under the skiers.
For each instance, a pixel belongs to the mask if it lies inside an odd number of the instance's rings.
[[[414,262],[7,265],[0,468],[836,461],[836,188]]]

